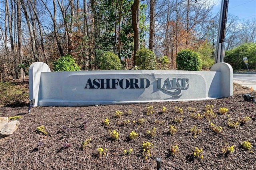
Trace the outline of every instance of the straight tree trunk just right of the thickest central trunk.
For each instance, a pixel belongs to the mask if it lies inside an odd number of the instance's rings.
[[[155,36],[155,0],[150,0],[149,49],[153,50]]]

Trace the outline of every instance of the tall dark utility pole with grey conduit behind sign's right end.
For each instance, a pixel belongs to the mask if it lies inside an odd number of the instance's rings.
[[[225,57],[225,32],[228,14],[228,0],[222,0],[215,63],[223,63]]]

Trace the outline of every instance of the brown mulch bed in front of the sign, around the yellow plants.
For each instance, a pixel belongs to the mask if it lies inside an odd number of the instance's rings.
[[[256,169],[256,122],[250,119],[238,128],[229,128],[228,119],[254,117],[255,103],[244,101],[242,94],[251,93],[246,87],[234,84],[232,97],[187,102],[164,102],[134,105],[107,105],[90,107],[34,107],[26,114],[27,107],[0,107],[1,117],[22,116],[20,126],[9,137],[0,139],[0,169],[91,169],[91,170],[155,170],[156,157],[162,158],[163,170],[239,170]],[[153,105],[155,113],[146,115],[148,105]],[[189,107],[203,114],[206,105],[213,105],[217,117],[210,119],[223,131],[214,133],[209,127],[208,119],[192,119]],[[166,113],[160,113],[162,107]],[[183,120],[179,124],[172,122],[181,114],[174,107],[183,109]],[[225,115],[218,114],[220,107],[228,108]],[[132,111],[128,115],[128,109]],[[115,111],[122,111],[119,120],[114,117]],[[228,117],[228,115],[230,117]],[[110,119],[110,125],[104,126],[103,121]],[[138,119],[147,121],[138,125],[132,123]],[[130,120],[127,125],[121,124]],[[156,120],[156,121],[155,121]],[[161,122],[164,122],[163,124]],[[44,125],[48,135],[36,133],[36,128]],[[169,126],[175,125],[177,132],[171,136]],[[190,132],[196,125],[202,129],[197,138]],[[156,127],[156,137],[146,135],[147,130]],[[108,130],[117,130],[118,140],[112,140]],[[137,132],[138,138],[129,140],[130,132]],[[83,148],[82,142],[92,138],[90,146]],[[251,150],[241,147],[243,141],[250,141]],[[142,143],[149,141],[154,144],[152,155],[145,159],[142,155]],[[178,145],[179,152],[172,155],[170,147]],[[232,154],[222,154],[222,148],[234,145]],[[106,156],[98,156],[99,147],[107,148]],[[203,158],[193,157],[194,148],[202,148]],[[130,155],[123,151],[132,148]]]

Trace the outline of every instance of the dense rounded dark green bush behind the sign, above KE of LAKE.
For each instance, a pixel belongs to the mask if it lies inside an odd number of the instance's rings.
[[[200,71],[202,69],[200,55],[190,49],[183,49],[178,52],[176,63],[178,70]]]

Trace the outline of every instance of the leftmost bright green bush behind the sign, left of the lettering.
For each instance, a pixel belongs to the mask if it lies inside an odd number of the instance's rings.
[[[76,63],[75,59],[70,55],[66,54],[60,57],[54,62],[54,71],[79,71],[80,67]]]

